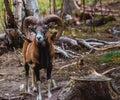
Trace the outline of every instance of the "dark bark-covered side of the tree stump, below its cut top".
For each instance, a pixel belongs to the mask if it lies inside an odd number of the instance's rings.
[[[112,100],[105,82],[75,82],[62,91],[58,100]]]

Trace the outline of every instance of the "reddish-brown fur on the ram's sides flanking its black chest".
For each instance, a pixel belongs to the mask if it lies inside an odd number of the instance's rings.
[[[48,32],[46,35],[48,37],[47,40],[50,45],[50,55],[53,57],[54,56],[54,46],[53,46],[53,43],[52,43],[52,40],[50,37],[50,33]],[[33,63],[39,64],[39,59],[37,59],[38,58],[37,55],[39,55],[39,51],[37,48],[35,35],[29,35],[29,39],[32,42],[28,42],[25,40],[25,42],[23,44],[22,53],[23,53],[24,63],[32,61]],[[44,41],[42,44],[43,44],[43,46],[45,45]]]

